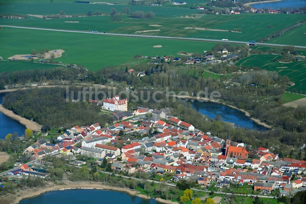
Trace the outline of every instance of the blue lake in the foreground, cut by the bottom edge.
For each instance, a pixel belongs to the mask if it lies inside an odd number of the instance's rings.
[[[155,200],[144,200],[137,196],[130,196],[124,192],[96,190],[96,189],[69,189],[64,191],[48,191],[42,195],[26,198],[19,204],[54,204],[61,203],[76,204],[76,203],[111,203],[111,204],[160,204]]]

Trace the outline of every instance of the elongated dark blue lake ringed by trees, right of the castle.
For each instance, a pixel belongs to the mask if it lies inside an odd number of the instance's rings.
[[[215,119],[216,115],[220,115],[220,120],[230,123],[235,123],[236,127],[245,129],[252,129],[258,131],[267,130],[266,127],[258,125],[253,120],[248,118],[243,112],[230,108],[228,106],[213,103],[213,102],[199,102],[195,100],[191,102],[192,108],[196,109],[208,118]]]

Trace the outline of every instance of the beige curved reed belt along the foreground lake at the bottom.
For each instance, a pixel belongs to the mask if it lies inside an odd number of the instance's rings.
[[[69,189],[96,189],[96,190],[111,190],[111,191],[120,191],[120,192],[125,192],[129,195],[132,196],[138,196],[143,199],[151,199],[149,196],[142,195],[142,194],[137,194],[139,191],[137,190],[132,190],[129,188],[123,188],[123,187],[113,187],[113,186],[106,186],[103,184],[100,184],[98,182],[93,182],[93,183],[69,183],[67,185],[54,185],[54,186],[49,186],[46,188],[39,188],[39,189],[28,189],[28,191],[21,191],[21,195],[17,195],[15,201],[13,203],[18,204],[21,200],[26,199],[26,198],[32,198],[39,196],[43,193],[49,192],[49,191],[64,191],[64,190],[69,190]],[[22,195],[24,194],[24,195]],[[168,204],[169,200],[163,200],[159,199],[158,202],[163,202]],[[175,202],[172,202],[175,203]]]

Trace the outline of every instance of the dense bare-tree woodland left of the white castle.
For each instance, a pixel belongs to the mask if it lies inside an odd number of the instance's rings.
[[[81,91],[69,87],[69,91]],[[75,97],[76,98],[76,97]],[[66,101],[66,89],[59,87],[17,90],[3,98],[3,106],[14,113],[43,125],[43,130],[51,127],[73,127],[99,122],[102,126],[112,122],[110,115],[99,114],[101,107],[87,101],[75,103]]]

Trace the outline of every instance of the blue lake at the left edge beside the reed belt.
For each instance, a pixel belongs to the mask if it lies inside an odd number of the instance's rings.
[[[0,104],[2,104],[2,97],[7,93],[0,93]],[[14,120],[2,112],[0,112],[0,139],[4,139],[5,136],[9,133],[17,132],[18,135],[24,134],[26,127],[19,123],[17,120]]]

